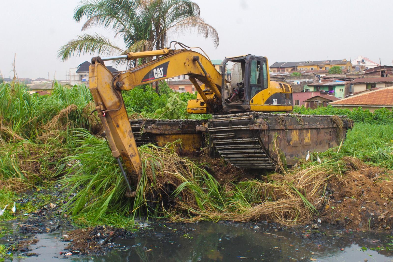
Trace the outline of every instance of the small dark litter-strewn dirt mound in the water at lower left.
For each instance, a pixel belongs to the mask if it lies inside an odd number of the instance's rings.
[[[73,254],[105,253],[112,248],[112,238],[125,236],[126,233],[125,229],[99,226],[75,229],[63,235],[63,238],[70,241],[65,249]]]

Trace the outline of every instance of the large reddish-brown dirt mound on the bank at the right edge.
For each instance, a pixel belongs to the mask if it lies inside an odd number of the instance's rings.
[[[359,163],[349,167],[357,170],[348,171],[342,180],[335,177],[329,181],[329,197],[319,219],[347,229],[392,229],[392,170]]]

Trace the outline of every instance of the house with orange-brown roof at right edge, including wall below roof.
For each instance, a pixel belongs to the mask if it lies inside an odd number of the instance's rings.
[[[392,110],[393,108],[393,87],[386,87],[378,90],[373,90],[365,94],[357,96],[350,96],[339,101],[330,102],[329,105],[338,108],[346,108],[353,110],[357,107],[369,109],[374,112],[376,109],[385,107]]]

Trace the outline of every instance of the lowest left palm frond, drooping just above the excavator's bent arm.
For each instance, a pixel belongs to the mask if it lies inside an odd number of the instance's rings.
[[[66,61],[73,55],[79,56],[81,54],[94,53],[113,55],[121,52],[124,52],[124,50],[112,44],[109,39],[102,35],[97,33],[95,35],[83,34],[78,35],[76,39],[72,39],[62,46],[57,53],[57,57],[61,58],[61,61]]]

